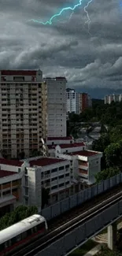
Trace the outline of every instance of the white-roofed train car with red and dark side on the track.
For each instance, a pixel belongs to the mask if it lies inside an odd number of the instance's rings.
[[[35,214],[0,231],[0,255],[9,255],[47,231],[46,219]]]

